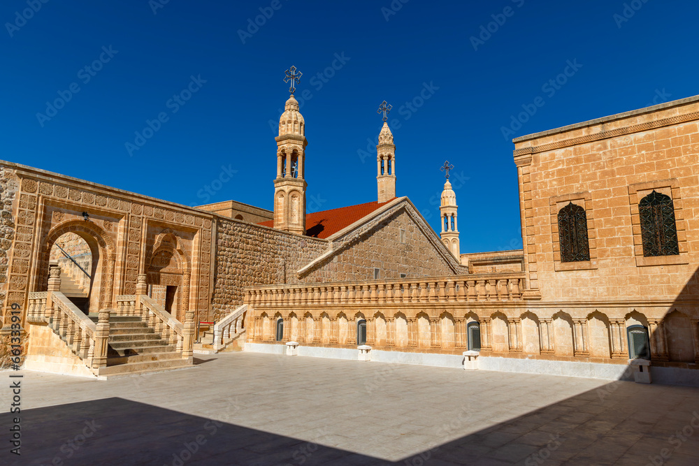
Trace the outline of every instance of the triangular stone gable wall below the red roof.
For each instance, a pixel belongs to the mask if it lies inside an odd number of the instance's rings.
[[[401,229],[405,243],[401,242]],[[352,238],[328,262],[312,270],[305,282],[373,280],[374,269],[381,279],[444,277],[454,275],[405,209],[396,211],[358,237]]]

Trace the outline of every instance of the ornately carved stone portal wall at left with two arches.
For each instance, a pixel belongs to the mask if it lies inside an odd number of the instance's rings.
[[[12,217],[17,223],[12,257],[0,253],[8,265],[8,300],[26,305],[29,292],[45,291],[52,245],[75,233],[98,252],[92,258],[91,312],[114,307],[117,295],[134,294],[143,273],[163,282],[150,284],[186,283],[183,301],[195,319],[208,319],[214,214],[17,163],[0,161],[0,170],[3,180],[14,173],[17,191],[6,211],[10,202],[3,181],[3,228],[12,225]],[[87,221],[82,212],[89,214]],[[10,231],[2,235],[12,237]],[[0,242],[7,253],[5,248]],[[171,258],[173,266],[153,270],[154,254],[160,263]],[[4,303],[3,314],[7,310]]]

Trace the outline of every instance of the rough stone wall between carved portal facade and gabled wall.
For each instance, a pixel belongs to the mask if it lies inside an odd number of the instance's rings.
[[[215,319],[243,304],[245,286],[298,283],[296,270],[328,242],[219,217],[212,309]],[[323,281],[329,281],[326,274]]]

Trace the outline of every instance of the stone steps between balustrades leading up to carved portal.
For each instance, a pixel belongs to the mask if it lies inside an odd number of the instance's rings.
[[[89,318],[97,322],[97,316]],[[107,367],[100,378],[131,376],[192,367],[139,316],[109,316]]]

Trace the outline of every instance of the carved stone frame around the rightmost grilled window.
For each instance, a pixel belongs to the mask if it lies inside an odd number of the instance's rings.
[[[641,236],[641,219],[638,213],[638,203],[642,198],[657,191],[665,196],[670,196],[675,207],[675,226],[677,226],[677,243],[679,245],[678,256],[654,256],[643,255],[643,240]],[[631,207],[631,227],[633,228],[633,254],[637,267],[649,267],[652,265],[684,265],[689,264],[687,250],[687,223],[682,213],[682,195],[677,178],[659,180],[644,183],[635,183],[628,186],[628,203]]]

